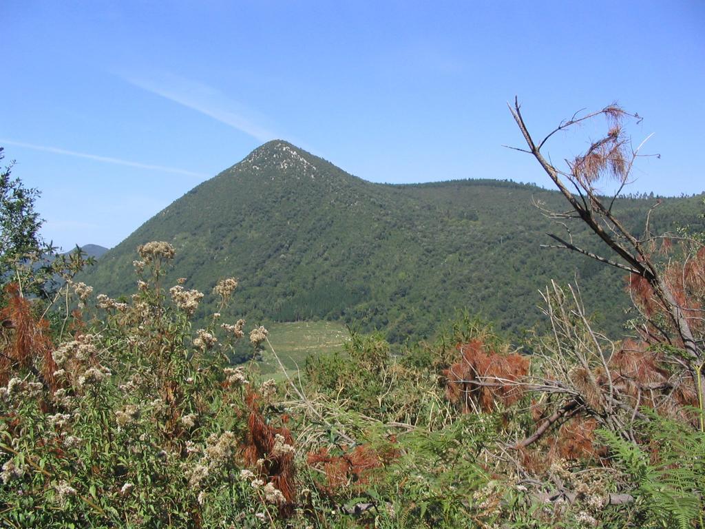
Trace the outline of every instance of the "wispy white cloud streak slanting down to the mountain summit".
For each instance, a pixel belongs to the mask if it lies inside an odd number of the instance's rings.
[[[251,109],[228,98],[223,92],[196,81],[180,78],[177,75],[159,75],[159,78],[137,78],[123,76],[131,85],[152,92],[195,111],[212,117],[221,123],[236,128],[261,142],[276,138],[276,135],[262,126],[264,116],[258,116]]]

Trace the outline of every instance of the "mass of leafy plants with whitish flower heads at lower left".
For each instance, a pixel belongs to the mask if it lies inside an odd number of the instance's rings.
[[[258,526],[280,516],[287,500],[266,473],[240,475],[257,375],[231,366],[228,352],[245,322],[229,329],[214,317],[194,336],[203,295],[177,285],[169,296],[160,285],[173,253],[168,243],[140,247],[129,303],[99,295],[90,309],[90,287],[68,282],[61,295],[78,310],[59,329],[42,320],[39,300],[8,300],[26,309],[35,335],[22,358],[0,365],[0,518],[9,525]],[[234,288],[221,285],[223,313]],[[14,328],[2,337],[23,346]]]

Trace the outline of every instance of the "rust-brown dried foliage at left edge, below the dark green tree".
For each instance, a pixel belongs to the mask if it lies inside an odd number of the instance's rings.
[[[37,318],[32,310],[32,303],[20,294],[15,283],[5,287],[7,305],[0,310],[2,332],[5,335],[0,354],[0,384],[7,384],[11,374],[16,370],[35,369],[35,360],[41,359],[41,375],[44,384],[54,391],[57,369],[49,336],[49,322]]]

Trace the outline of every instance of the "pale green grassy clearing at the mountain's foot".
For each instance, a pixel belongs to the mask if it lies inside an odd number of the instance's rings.
[[[308,355],[342,350],[348,329],[338,322],[287,322],[269,327],[269,341],[290,374],[303,369]],[[283,377],[271,352],[258,362],[262,375]]]

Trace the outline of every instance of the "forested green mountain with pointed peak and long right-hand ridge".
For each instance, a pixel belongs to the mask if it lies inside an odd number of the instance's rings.
[[[652,226],[696,222],[699,200],[663,200]],[[589,310],[616,332],[629,305],[620,272],[541,248],[551,244],[546,232],[563,229],[537,202],[566,209],[557,192],[508,181],[369,183],[275,140],[149,219],[81,279],[96,292],[130,293],[137,245],[169,241],[177,255],[166,284],[187,277],[207,294],[203,315],[214,310],[216,281],[236,276],[235,312],[252,324],[342,319],[404,341],[462,308],[518,333],[539,320],[540,288],[577,276]],[[615,207],[638,228],[653,203]],[[578,224],[572,236],[588,234]]]

